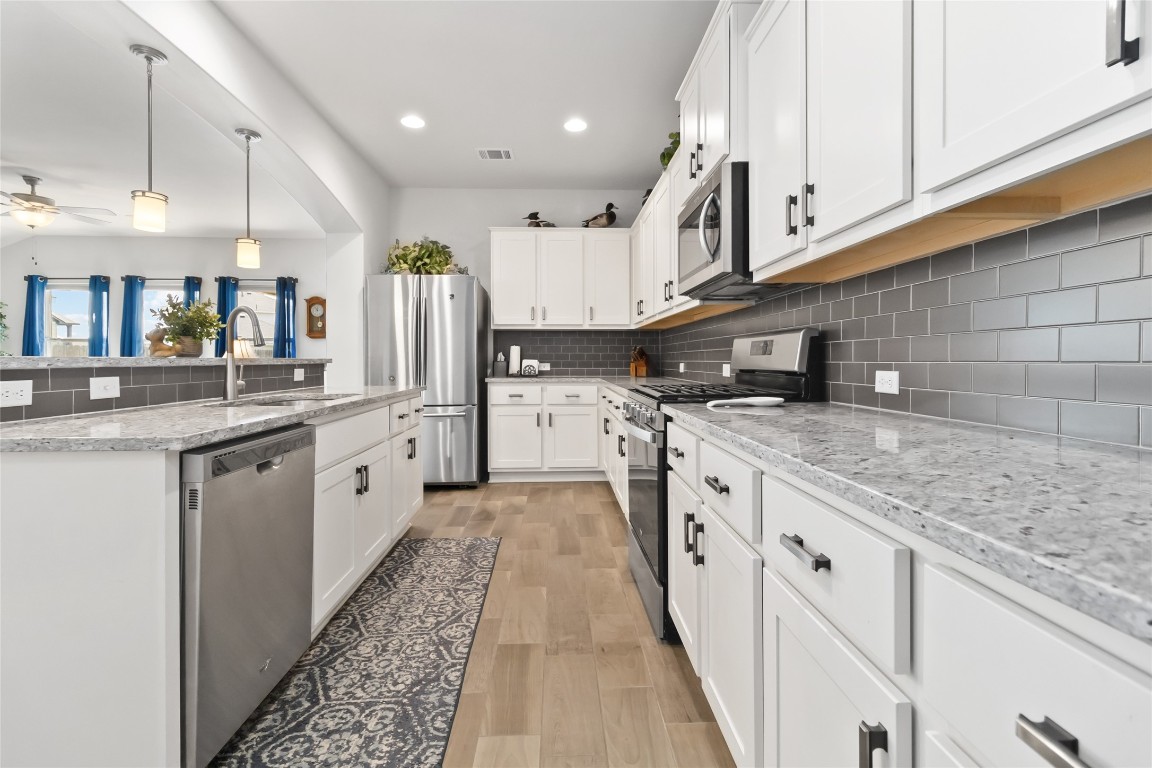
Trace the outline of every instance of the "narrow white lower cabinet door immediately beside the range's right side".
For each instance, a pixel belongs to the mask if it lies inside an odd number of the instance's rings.
[[[694,547],[700,500],[683,480],[668,474],[668,613],[680,630],[684,653],[700,674],[700,575]]]

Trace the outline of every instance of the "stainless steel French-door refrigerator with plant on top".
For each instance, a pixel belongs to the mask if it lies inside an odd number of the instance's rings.
[[[365,295],[369,383],[425,387],[424,482],[480,482],[488,296],[479,280],[369,275]]]

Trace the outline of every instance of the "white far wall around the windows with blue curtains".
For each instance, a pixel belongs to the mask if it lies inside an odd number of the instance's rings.
[[[202,298],[215,302],[213,277],[234,275],[252,277],[297,277],[296,286],[296,355],[328,357],[323,339],[304,335],[304,299],[327,295],[326,243],[324,239],[265,239],[260,249],[259,269],[236,267],[236,244],[214,237],[51,237],[33,236],[3,250],[0,268],[0,301],[8,305],[8,341],[3,349],[20,353],[24,326],[26,283],[24,275],[46,277],[86,277],[108,275],[108,351],[120,353],[120,317],[123,307],[122,275],[144,277],[204,279]],[[270,284],[270,283],[265,283]],[[268,340],[272,343],[272,340]]]

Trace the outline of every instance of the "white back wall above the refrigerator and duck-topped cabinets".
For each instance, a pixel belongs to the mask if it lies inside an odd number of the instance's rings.
[[[654,175],[652,183],[659,178]],[[562,189],[394,189],[389,205],[393,238],[407,243],[427,235],[452,248],[456,261],[488,289],[492,273],[488,227],[523,227],[539,211],[558,227],[579,227],[608,203],[614,203],[615,228],[627,229],[641,210],[644,190]],[[382,272],[384,254],[369,261],[367,271]]]

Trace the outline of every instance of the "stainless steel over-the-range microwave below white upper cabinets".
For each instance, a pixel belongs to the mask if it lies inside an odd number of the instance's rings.
[[[677,218],[680,292],[702,301],[759,302],[803,286],[756,283],[749,268],[748,164],[722,162]]]

